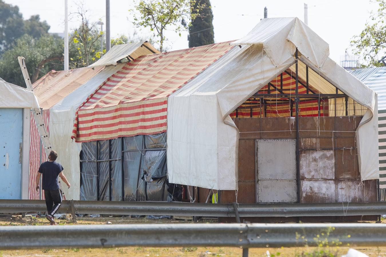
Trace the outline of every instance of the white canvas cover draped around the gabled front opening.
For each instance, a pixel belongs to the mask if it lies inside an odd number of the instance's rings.
[[[325,80],[320,91],[330,83],[367,108],[356,133],[359,171],[362,180],[379,178],[376,93],[328,57],[324,40],[298,18],[267,18],[232,45],[168,99],[169,182],[237,189],[239,134],[229,114],[291,67],[296,49],[298,60]]]

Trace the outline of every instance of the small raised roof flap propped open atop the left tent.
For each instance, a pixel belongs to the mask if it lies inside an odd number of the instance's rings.
[[[126,57],[127,61],[130,61],[141,55],[157,53],[159,53],[159,51],[147,41],[114,45],[105,55],[88,67],[92,68],[98,66],[117,65],[117,63]]]

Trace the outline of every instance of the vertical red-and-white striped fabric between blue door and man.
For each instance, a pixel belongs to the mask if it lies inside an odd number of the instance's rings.
[[[47,132],[49,132],[49,110],[43,110],[42,116],[44,124],[46,125]],[[36,176],[40,164],[46,161],[47,158],[46,152],[44,151],[44,146],[42,146],[40,143],[40,134],[37,130],[36,122],[32,116],[32,112],[30,117],[28,198],[30,200],[39,200],[44,199],[44,194],[42,194],[42,190],[39,192],[35,190]]]

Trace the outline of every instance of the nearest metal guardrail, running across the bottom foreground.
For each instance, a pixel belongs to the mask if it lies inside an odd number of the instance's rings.
[[[329,232],[329,233],[328,233]],[[328,235],[329,234],[329,235]],[[385,246],[386,224],[141,224],[0,227],[0,249]]]

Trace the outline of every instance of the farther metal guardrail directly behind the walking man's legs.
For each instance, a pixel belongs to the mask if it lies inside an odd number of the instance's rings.
[[[71,205],[73,202],[73,205]],[[71,208],[73,207],[73,209]],[[0,200],[0,213],[45,212],[44,200]],[[301,217],[386,214],[386,202],[212,204],[182,202],[63,201],[59,212],[205,217]],[[236,215],[238,213],[238,215]]]

